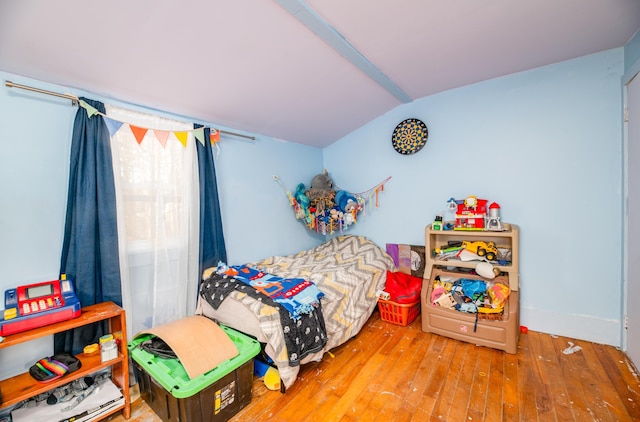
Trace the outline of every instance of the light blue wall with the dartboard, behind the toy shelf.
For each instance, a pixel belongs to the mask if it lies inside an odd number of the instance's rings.
[[[414,101],[324,150],[341,185],[392,176],[354,233],[424,245],[446,201],[476,195],[521,229],[521,322],[620,345],[623,48]],[[401,156],[391,133],[416,117],[425,148]],[[450,216],[450,215],[449,215]]]

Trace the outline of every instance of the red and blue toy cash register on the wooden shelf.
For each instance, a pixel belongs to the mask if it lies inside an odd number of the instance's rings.
[[[4,307],[0,320],[2,336],[77,318],[82,313],[73,283],[64,274],[60,280],[5,291]]]

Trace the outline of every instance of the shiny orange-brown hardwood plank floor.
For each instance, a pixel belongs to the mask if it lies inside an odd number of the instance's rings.
[[[571,343],[581,350],[563,353]],[[304,365],[285,394],[254,378],[251,404],[231,420],[640,420],[640,379],[611,346],[529,331],[510,355],[424,333],[420,317],[392,325],[376,311],[332,355]],[[141,400],[129,420],[160,421]]]

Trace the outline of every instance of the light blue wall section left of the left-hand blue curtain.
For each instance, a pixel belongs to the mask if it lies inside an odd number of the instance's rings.
[[[64,232],[69,150],[75,109],[54,97],[4,86],[0,73],[0,294],[57,279]],[[51,85],[40,84],[43,89]],[[4,309],[4,302],[1,306]],[[0,379],[24,372],[53,347],[51,337],[0,351]]]

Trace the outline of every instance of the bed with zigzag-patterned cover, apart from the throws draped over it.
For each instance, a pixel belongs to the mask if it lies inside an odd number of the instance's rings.
[[[395,270],[393,259],[384,249],[366,237],[355,235],[336,236],[297,254],[272,256],[245,265],[279,277],[304,278],[313,282],[323,294],[318,323],[323,325],[326,342],[292,361],[286,347],[281,310],[236,290],[212,305],[207,299],[212,283],[207,280],[214,277],[217,268],[203,273],[196,314],[249,334],[263,343],[285,388],[295,382],[301,364],[321,360],[325,352],[360,331],[376,307],[376,292],[384,289],[387,271]],[[205,286],[209,289],[208,294],[204,294]]]

